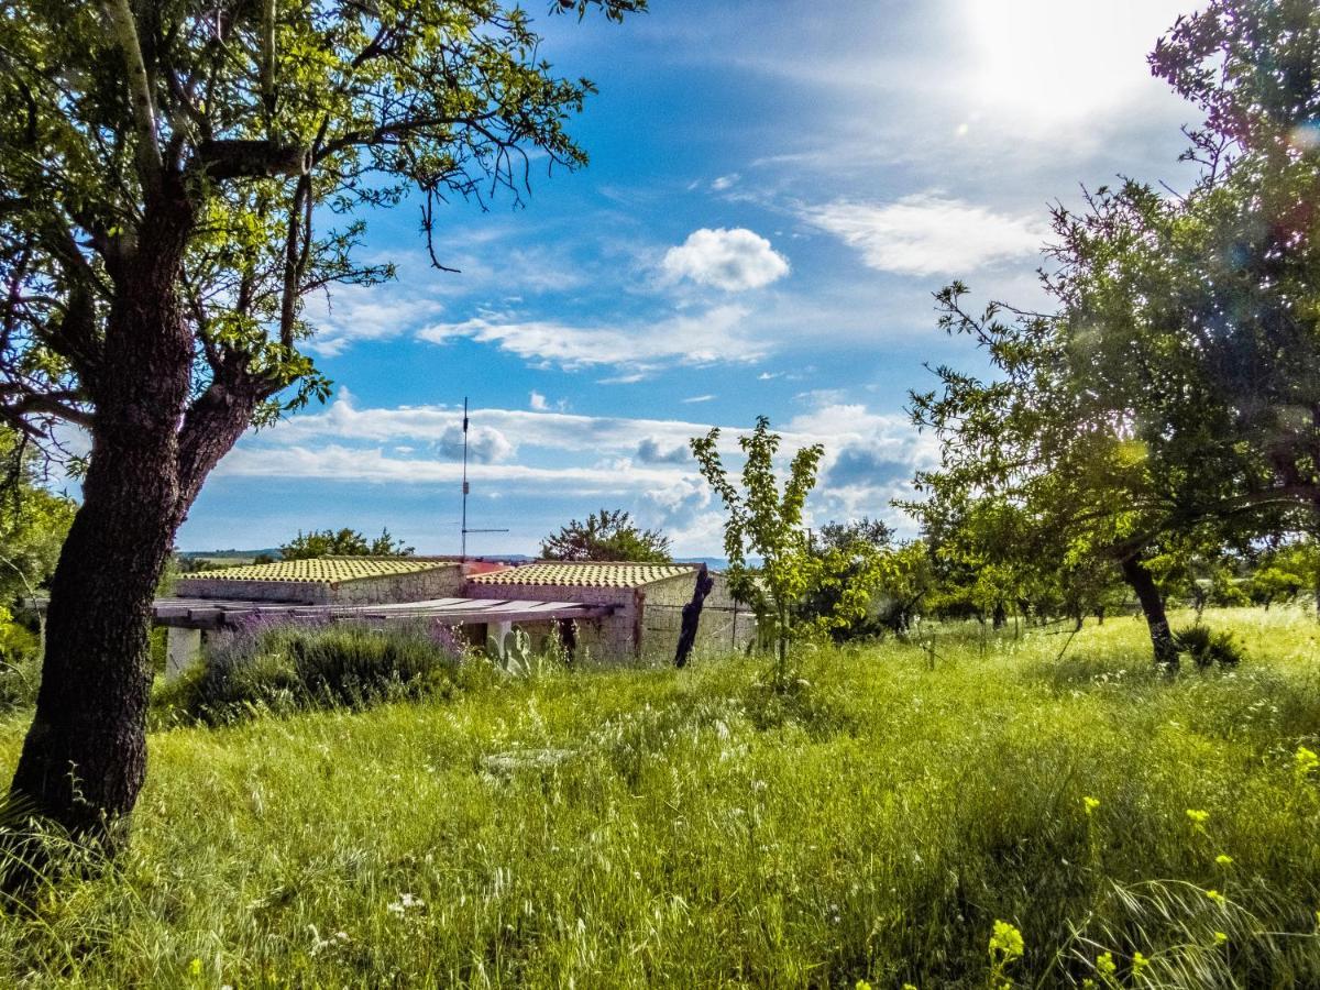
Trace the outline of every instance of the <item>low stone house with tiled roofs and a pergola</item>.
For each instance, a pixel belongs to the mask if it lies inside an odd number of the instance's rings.
[[[558,628],[579,660],[663,665],[675,660],[682,609],[692,602],[700,572],[692,564],[321,557],[181,578],[177,598],[157,601],[154,616],[169,628],[172,672],[199,656],[203,631],[223,624],[230,610],[293,618],[317,609],[359,614],[366,607],[371,618],[371,606],[395,618],[453,620],[474,645],[484,645],[490,634],[503,640],[516,626],[540,648]],[[743,651],[756,634],[755,616],[733,601],[723,576],[710,577],[692,659]],[[583,618],[564,618],[572,615]]]

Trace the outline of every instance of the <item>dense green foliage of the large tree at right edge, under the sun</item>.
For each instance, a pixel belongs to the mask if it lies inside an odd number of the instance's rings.
[[[1296,205],[1320,194],[1317,59],[1313,4],[1217,0],[1180,20],[1151,63],[1205,114],[1195,186],[1125,180],[1057,207],[1051,312],[969,312],[961,282],[939,293],[941,326],[993,376],[941,367],[940,388],[912,396],[942,441],[912,508],[985,590],[1057,597],[1030,586],[1076,587],[1078,569],[1102,589],[1115,562],[1142,583],[1173,574],[1162,557],[1315,529],[1320,252]],[[1159,656],[1162,606],[1143,605]]]

